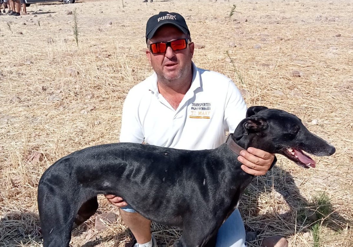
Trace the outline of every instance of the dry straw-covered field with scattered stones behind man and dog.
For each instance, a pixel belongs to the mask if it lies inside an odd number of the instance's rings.
[[[66,14],[75,8],[78,45],[73,15]],[[257,234],[249,246],[273,235],[289,246],[353,246],[351,1],[83,0],[27,10],[0,16],[0,246],[42,246],[36,188],[50,164],[119,140],[125,96],[152,73],[145,23],[159,11],[186,18],[193,42],[204,46],[195,50],[196,65],[232,78],[248,106],[294,113],[336,147],[331,157],[315,157],[315,169],[279,155],[276,167],[253,180],[239,206],[246,230]],[[31,163],[35,152],[43,159]],[[118,213],[99,201],[100,212]],[[307,217],[308,210],[317,218]],[[162,247],[180,234],[152,227]],[[92,217],[73,232],[71,245],[128,241],[119,218],[95,230]]]

